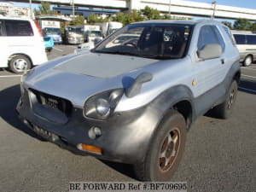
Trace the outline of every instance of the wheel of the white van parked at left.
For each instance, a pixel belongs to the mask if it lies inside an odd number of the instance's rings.
[[[31,69],[31,61],[24,55],[17,55],[9,61],[9,68],[14,73],[24,73],[26,70]]]

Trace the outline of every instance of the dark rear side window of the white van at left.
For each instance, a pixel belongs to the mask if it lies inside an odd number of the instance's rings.
[[[5,20],[6,36],[33,36],[32,26],[27,20]]]

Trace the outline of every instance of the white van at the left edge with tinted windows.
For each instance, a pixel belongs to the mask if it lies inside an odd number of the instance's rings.
[[[0,67],[23,73],[47,61],[44,38],[31,19],[0,16]]]

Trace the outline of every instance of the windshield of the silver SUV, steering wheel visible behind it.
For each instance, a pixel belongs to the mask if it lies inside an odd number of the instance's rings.
[[[191,31],[191,25],[183,24],[131,24],[103,40],[94,51],[157,59],[181,58]]]

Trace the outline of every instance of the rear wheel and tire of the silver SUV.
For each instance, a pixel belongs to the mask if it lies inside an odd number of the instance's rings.
[[[234,110],[237,95],[237,82],[233,80],[225,101],[214,108],[214,113],[220,119],[228,119]]]

